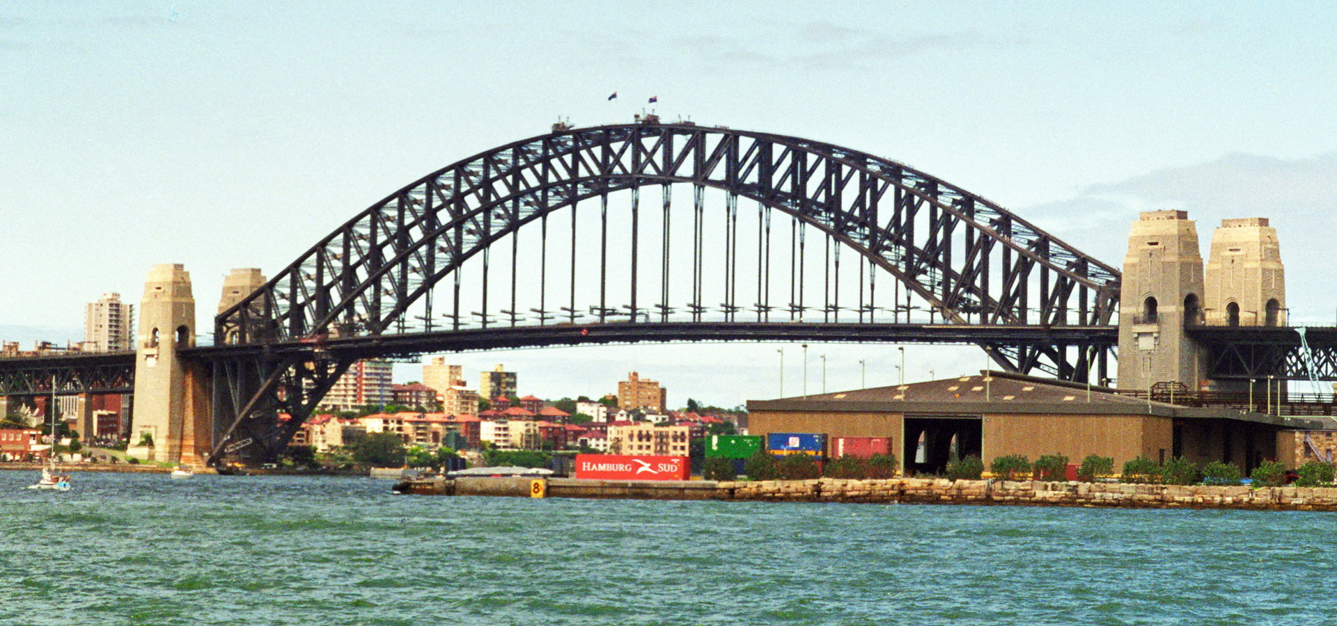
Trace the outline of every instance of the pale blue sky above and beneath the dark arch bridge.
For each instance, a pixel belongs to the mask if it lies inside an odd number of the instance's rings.
[[[428,172],[559,119],[630,121],[650,96],[664,119],[906,163],[1115,266],[1139,211],[1187,210],[1203,247],[1221,219],[1265,216],[1292,320],[1337,319],[1333,3],[384,4],[0,1],[0,340],[80,340],[84,303],[138,302],[158,263],[191,272],[209,328],[231,268],[274,275]],[[734,406],[801,390],[802,352],[452,360],[545,398],[639,371],[670,404]],[[901,376],[894,346],[806,352],[810,391],[824,363],[830,391]],[[908,380],[985,367],[905,355]]]

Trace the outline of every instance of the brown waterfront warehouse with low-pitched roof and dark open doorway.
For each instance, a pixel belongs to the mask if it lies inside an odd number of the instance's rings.
[[[1015,374],[929,380],[834,394],[747,402],[749,431],[886,436],[906,473],[941,473],[956,448],[988,464],[1021,454],[1090,454],[1163,462],[1183,456],[1251,470],[1277,459],[1304,462],[1305,432],[1332,430],[1326,418],[1286,418],[1226,407],[1183,407],[1119,395],[1100,387]]]

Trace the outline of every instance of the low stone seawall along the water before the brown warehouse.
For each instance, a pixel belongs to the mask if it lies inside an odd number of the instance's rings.
[[[1013,505],[1130,509],[1337,511],[1337,487],[1124,485],[1046,481],[583,481],[575,478],[427,478],[396,493],[525,498],[862,502],[877,505]]]

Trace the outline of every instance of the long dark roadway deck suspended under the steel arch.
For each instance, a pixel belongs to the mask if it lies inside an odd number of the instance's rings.
[[[832,343],[1000,343],[1027,346],[1114,346],[1115,326],[967,326],[874,324],[821,322],[610,322],[550,324],[460,331],[357,335],[277,342],[267,344],[207,346],[183,350],[186,358],[211,359],[243,355],[286,355],[324,350],[352,358],[408,356],[431,352],[582,346],[608,343],[678,342],[832,342]]]

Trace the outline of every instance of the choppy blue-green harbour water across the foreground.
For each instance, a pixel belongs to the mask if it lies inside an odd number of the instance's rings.
[[[1337,514],[405,497],[0,471],[0,623],[1320,625]]]

